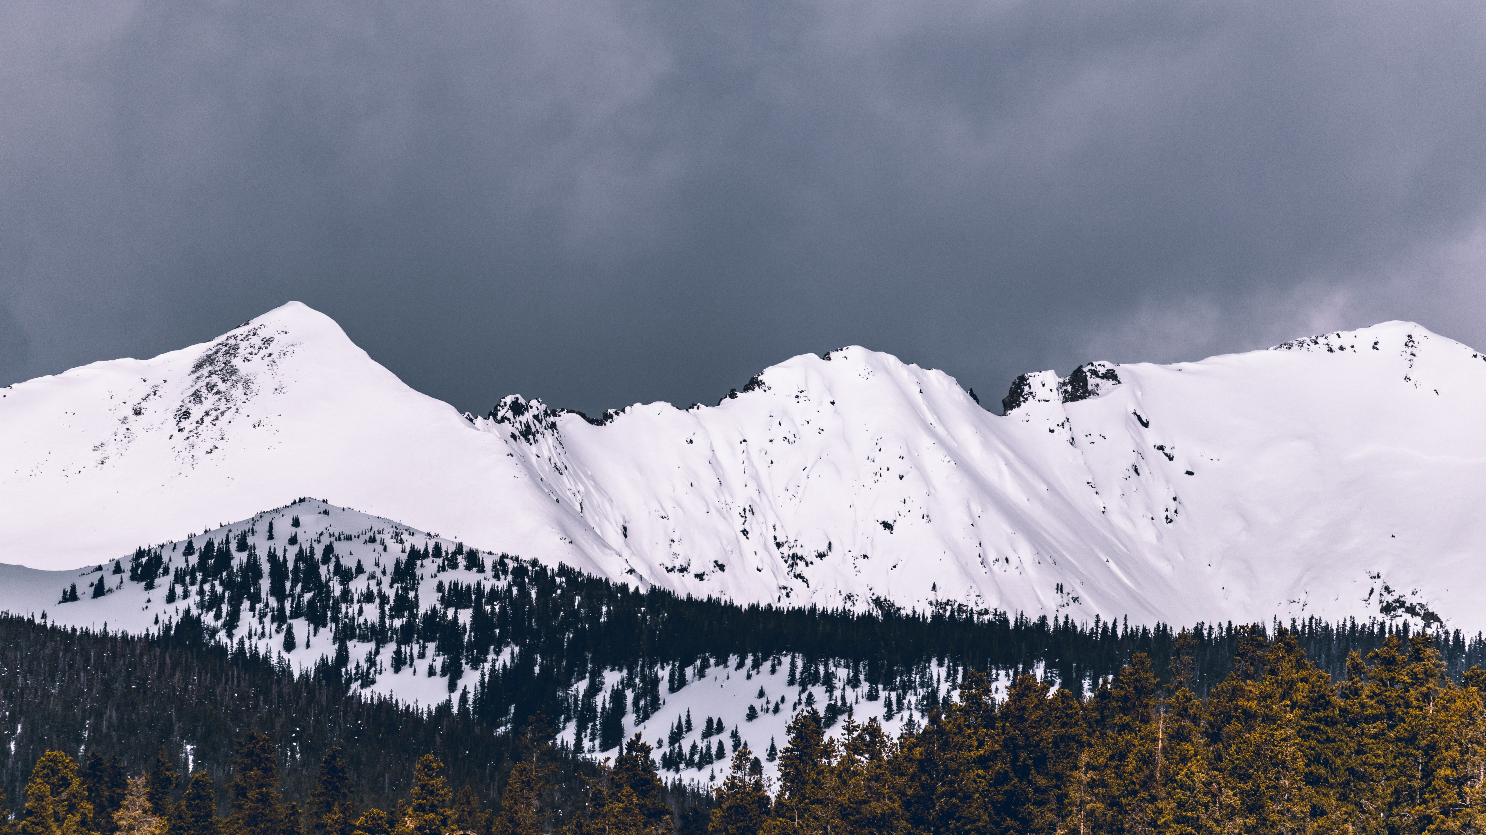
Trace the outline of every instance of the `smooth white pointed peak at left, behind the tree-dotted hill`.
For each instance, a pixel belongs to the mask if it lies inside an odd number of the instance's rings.
[[[372,361],[297,302],[153,360],[0,389],[0,559],[111,560],[296,496],[618,574],[508,444]],[[594,563],[593,560],[599,560]]]

